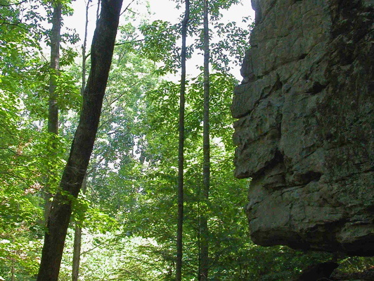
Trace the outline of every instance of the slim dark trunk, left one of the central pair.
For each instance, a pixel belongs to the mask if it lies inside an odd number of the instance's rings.
[[[183,257],[183,168],[184,168],[184,106],[186,102],[186,38],[190,17],[190,1],[186,0],[186,13],[182,23],[181,94],[179,99],[179,148],[178,148],[178,226],[176,230],[176,281],[181,281]]]

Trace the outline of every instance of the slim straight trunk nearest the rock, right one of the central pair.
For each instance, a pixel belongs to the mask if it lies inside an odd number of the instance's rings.
[[[200,216],[200,280],[208,280],[209,271],[209,230],[207,224],[210,187],[210,144],[209,144],[209,11],[208,1],[204,0],[204,118],[203,118],[203,188],[202,211]]]

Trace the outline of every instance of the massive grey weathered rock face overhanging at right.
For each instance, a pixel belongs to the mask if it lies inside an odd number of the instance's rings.
[[[374,1],[252,6],[231,108],[252,239],[374,255]]]

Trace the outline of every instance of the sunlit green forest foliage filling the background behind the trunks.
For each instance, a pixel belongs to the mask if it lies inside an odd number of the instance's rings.
[[[69,0],[61,3],[63,17],[72,13]],[[176,6],[182,3],[175,1]],[[122,15],[86,174],[87,191],[74,201],[59,280],[71,280],[73,223],[83,228],[79,280],[175,278],[181,24],[139,21],[136,8],[145,4],[138,1],[131,13]],[[231,68],[240,67],[251,26],[243,30],[235,21],[220,22],[223,9],[234,4],[240,1],[209,1],[207,206],[200,196],[202,67],[187,70],[182,275],[183,280],[198,280],[199,220],[204,215],[209,226],[209,280],[289,280],[331,255],[262,247],[250,240],[244,212],[250,180],[233,177],[229,108],[238,84]],[[0,280],[36,278],[45,231],[44,186],[48,178],[51,193],[58,189],[82,106],[79,37],[65,30],[61,68],[53,73],[46,52],[50,16],[51,1],[0,0]],[[191,58],[202,51],[202,1],[191,1],[188,36],[193,39],[187,53]],[[51,75],[57,82],[58,135],[46,130]],[[368,263],[360,258],[342,262],[347,270]]]

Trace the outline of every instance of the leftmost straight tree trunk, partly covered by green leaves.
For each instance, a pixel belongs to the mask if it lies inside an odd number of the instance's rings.
[[[56,75],[58,75],[60,64],[60,32],[61,32],[61,4],[59,1],[53,2],[52,30],[51,30],[51,62],[49,68],[51,77],[49,78],[49,106],[48,106],[48,132],[58,135],[58,104],[56,94]],[[57,149],[56,139],[52,139],[51,151]],[[53,158],[54,155],[49,157]],[[50,170],[53,170],[51,168]],[[44,187],[44,222],[48,221],[49,211],[51,210],[51,179],[53,175],[47,178],[46,187]]]

